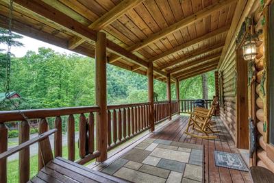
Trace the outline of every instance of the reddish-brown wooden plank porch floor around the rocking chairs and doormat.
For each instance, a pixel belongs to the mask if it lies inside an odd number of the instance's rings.
[[[202,144],[205,147],[205,182],[251,182],[249,173],[223,167],[216,167],[214,150],[238,153],[234,141],[221,121],[217,124],[222,132],[215,140],[194,138],[184,134],[188,117],[178,117],[160,132],[154,132],[151,138],[162,138],[169,141]],[[218,121],[218,120],[217,120]]]

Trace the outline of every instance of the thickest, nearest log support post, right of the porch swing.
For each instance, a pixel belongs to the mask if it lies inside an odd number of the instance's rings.
[[[97,149],[100,156],[97,162],[104,162],[108,158],[108,121],[107,121],[107,77],[106,77],[106,35],[103,32],[97,33],[95,49],[96,68],[96,104],[100,111],[96,115]]]

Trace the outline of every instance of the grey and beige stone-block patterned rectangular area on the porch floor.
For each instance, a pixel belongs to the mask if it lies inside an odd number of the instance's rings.
[[[203,145],[147,138],[101,171],[130,182],[202,182]]]

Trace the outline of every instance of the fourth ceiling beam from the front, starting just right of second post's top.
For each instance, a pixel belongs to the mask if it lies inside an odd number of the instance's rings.
[[[188,56],[184,56],[183,58],[180,58],[179,60],[174,60],[173,62],[169,62],[167,64],[164,64],[162,66],[159,66],[158,69],[163,70],[163,69],[168,69],[171,66],[175,66],[176,64],[181,64],[182,62],[186,62],[187,60],[190,60],[192,58],[195,58],[197,56],[201,56],[205,53],[209,53],[211,51],[216,51],[217,49],[222,49],[223,48],[223,43],[214,45],[212,47],[205,47],[204,49],[200,49],[198,51],[195,51],[191,53]]]

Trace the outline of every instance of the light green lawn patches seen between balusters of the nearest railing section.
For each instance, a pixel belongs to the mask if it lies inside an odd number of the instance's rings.
[[[68,147],[63,146],[63,158],[68,158]],[[79,159],[79,149],[77,143],[75,143],[75,160]],[[30,160],[30,175],[29,178],[34,177],[38,173],[38,155],[31,156]],[[18,172],[19,161],[12,160],[8,162],[8,182],[18,182],[19,172]]]

